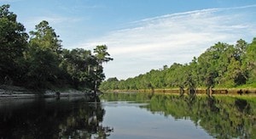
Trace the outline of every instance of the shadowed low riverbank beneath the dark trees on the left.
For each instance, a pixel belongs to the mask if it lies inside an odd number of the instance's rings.
[[[77,90],[66,91],[32,91],[20,86],[0,86],[0,99],[4,98],[35,98],[35,97],[79,97],[92,96],[92,92],[82,92]]]

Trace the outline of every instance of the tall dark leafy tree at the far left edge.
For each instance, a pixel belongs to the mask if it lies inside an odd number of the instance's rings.
[[[9,12],[9,5],[0,7],[0,84],[16,83],[22,73],[23,53],[27,34],[17,15]]]

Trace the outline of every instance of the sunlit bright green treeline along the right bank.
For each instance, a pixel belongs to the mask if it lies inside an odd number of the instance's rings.
[[[170,53],[172,54],[172,53]],[[152,69],[148,73],[119,81],[109,78],[102,90],[138,90],[166,88],[256,88],[256,38],[235,45],[218,42],[193,58],[189,64]]]

